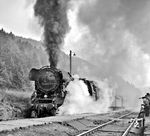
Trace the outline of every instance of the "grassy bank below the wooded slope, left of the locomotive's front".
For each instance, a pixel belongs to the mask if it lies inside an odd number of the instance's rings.
[[[0,90],[0,120],[24,118],[31,92]]]

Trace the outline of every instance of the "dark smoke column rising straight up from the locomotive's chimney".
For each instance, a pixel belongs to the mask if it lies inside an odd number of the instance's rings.
[[[60,46],[68,30],[67,3],[69,0],[36,0],[35,16],[44,27],[44,45],[51,67],[56,67]]]

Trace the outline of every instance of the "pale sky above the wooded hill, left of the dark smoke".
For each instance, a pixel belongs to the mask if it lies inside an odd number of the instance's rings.
[[[40,40],[40,27],[33,17],[33,4],[34,0],[0,0],[0,28]]]

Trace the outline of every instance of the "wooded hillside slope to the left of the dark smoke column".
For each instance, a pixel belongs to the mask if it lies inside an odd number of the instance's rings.
[[[31,87],[30,69],[47,63],[45,52],[36,43],[0,30],[0,88],[27,90]]]

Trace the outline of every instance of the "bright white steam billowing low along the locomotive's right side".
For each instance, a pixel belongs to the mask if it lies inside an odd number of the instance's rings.
[[[75,77],[67,86],[67,95],[59,114],[105,113],[113,101],[113,89],[107,81],[99,81],[99,99],[96,101],[88,92],[87,85]]]

